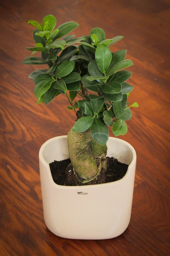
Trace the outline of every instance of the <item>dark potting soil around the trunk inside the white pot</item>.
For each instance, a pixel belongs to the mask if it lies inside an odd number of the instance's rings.
[[[97,179],[84,184],[82,184],[81,181],[79,181],[74,175],[73,166],[71,165],[70,159],[54,161],[53,163],[50,163],[49,166],[54,182],[58,185],[64,186],[85,186],[103,184],[120,180],[122,179],[122,177],[125,176],[128,168],[127,164],[120,163],[114,157],[107,157],[107,162],[108,167],[106,171],[102,169]]]

